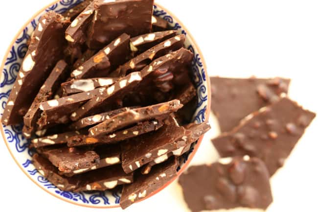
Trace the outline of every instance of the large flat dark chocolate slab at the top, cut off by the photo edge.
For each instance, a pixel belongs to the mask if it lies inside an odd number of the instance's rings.
[[[95,0],[87,46],[98,49],[122,33],[131,36],[149,33],[153,3],[154,0]]]

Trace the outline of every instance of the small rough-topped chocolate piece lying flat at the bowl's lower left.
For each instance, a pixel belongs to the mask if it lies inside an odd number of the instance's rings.
[[[100,160],[96,152],[75,147],[49,149],[44,151],[43,155],[63,173],[91,168],[94,165],[98,165]]]

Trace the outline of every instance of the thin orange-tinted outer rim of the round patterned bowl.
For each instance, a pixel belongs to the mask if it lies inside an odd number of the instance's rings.
[[[14,43],[16,42],[16,40],[18,39],[18,37],[20,36],[20,34],[23,32],[23,29],[33,20],[35,19],[40,13],[42,13],[43,11],[45,11],[46,8],[50,7],[51,5],[53,4],[56,4],[58,3],[60,0],[54,0],[53,2],[47,4],[46,6],[44,6],[42,9],[38,10],[30,19],[28,19],[26,21],[25,24],[23,24],[23,26],[20,28],[20,30],[17,32],[17,34],[14,36],[13,40],[11,41],[9,47],[7,48],[5,54],[4,54],[4,58],[2,60],[2,63],[1,63],[1,66],[0,66],[0,71],[3,70],[4,68],[4,64],[7,60],[7,56],[9,55],[10,53],[10,50],[11,50],[11,47],[14,45]],[[191,39],[192,43],[194,44],[194,46],[196,47],[200,57],[201,57],[201,62],[203,64],[203,68],[204,68],[204,74],[205,76],[207,77],[207,80],[206,80],[206,83],[207,83],[207,108],[206,108],[206,111],[205,111],[205,120],[208,120],[209,116],[210,116],[210,111],[211,111],[211,85],[210,85],[210,80],[208,78],[208,74],[207,74],[207,67],[206,67],[206,63],[205,63],[205,60],[204,60],[204,56],[202,54],[202,51],[200,49],[200,47],[198,46],[197,42],[195,41],[194,37],[192,36],[192,34],[190,33],[190,31],[184,26],[184,24],[168,9],[166,9],[165,7],[161,6],[161,4],[155,2],[155,5],[159,6],[162,10],[166,11],[174,20],[176,20],[176,22],[178,22],[182,28],[186,31],[187,33],[187,36],[189,36],[189,38]],[[0,116],[1,118],[2,116]],[[40,186],[40,184],[38,184],[34,179],[32,179],[27,173],[26,171],[24,170],[24,168],[22,167],[22,165],[20,165],[20,163],[17,161],[17,159],[15,158],[14,154],[11,152],[10,150],[10,147],[6,141],[6,138],[5,138],[5,135],[4,135],[4,129],[3,129],[3,126],[2,124],[0,124],[0,131],[1,131],[1,136],[2,136],[2,139],[11,155],[11,157],[13,158],[13,160],[15,161],[15,163],[19,166],[19,168],[23,171],[23,173],[35,184],[37,185],[39,188],[45,190],[45,192],[47,192],[48,194],[52,195],[52,196],[55,196],[56,198],[60,199],[60,200],[63,200],[65,202],[68,202],[68,203],[71,203],[71,204],[74,204],[74,205],[77,205],[77,206],[82,206],[82,207],[87,207],[87,208],[100,208],[100,209],[109,209],[109,208],[119,208],[120,205],[117,204],[117,205],[114,205],[114,206],[108,206],[108,205],[105,205],[105,206],[94,206],[94,205],[90,205],[90,204],[81,204],[81,203],[76,203],[74,201],[71,201],[71,200],[68,200],[66,198],[62,198],[60,195],[57,195],[55,193],[52,193],[52,192],[49,192],[47,189],[43,188]],[[152,197],[153,195],[159,193],[161,190],[163,190],[164,188],[168,187],[172,182],[174,182],[181,174],[182,172],[187,168],[187,166],[190,164],[190,162],[192,161],[194,155],[196,154],[198,148],[200,147],[200,144],[202,142],[204,138],[204,135],[201,136],[197,142],[197,144],[195,145],[195,148],[193,150],[193,152],[189,155],[187,161],[185,162],[184,165],[182,165],[182,168],[177,172],[177,176],[175,176],[173,179],[171,179],[169,182],[167,182],[165,185],[163,185],[162,187],[158,188],[156,191],[154,191],[151,195],[141,199],[141,200],[138,200],[136,203],[138,202],[141,202],[145,199],[148,199],[150,197]]]

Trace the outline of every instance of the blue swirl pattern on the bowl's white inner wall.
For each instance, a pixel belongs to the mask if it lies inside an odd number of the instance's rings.
[[[27,51],[26,41],[30,38],[31,33],[36,28],[41,15],[46,11],[54,10],[55,12],[62,13],[69,8],[74,7],[76,4],[82,2],[83,0],[61,0],[48,7],[45,11],[39,14],[34,20],[32,20],[24,29],[18,39],[15,41],[14,45],[11,47],[7,59],[4,63],[4,68],[1,74],[0,81],[0,113],[2,115],[3,110],[6,106],[7,99],[11,92],[13,83],[17,77],[17,74],[21,67],[21,62]],[[187,35],[186,31],[182,28],[179,23],[176,23],[173,18],[164,10],[154,6],[154,15],[163,18],[168,21],[171,28],[178,30],[179,33]],[[192,61],[193,78],[196,83],[196,88],[198,91],[198,107],[194,116],[194,120],[198,123],[205,120],[205,112],[207,107],[207,82],[204,72],[204,67],[201,62],[201,58],[196,49],[192,45],[191,38],[186,36],[185,46],[193,52],[194,59]],[[105,192],[66,192],[62,191],[53,184],[51,184],[45,177],[43,177],[35,168],[31,162],[32,152],[28,149],[29,141],[27,141],[22,135],[23,125],[17,126],[4,126],[4,135],[7,141],[8,148],[14,154],[15,159],[21,166],[25,169],[26,173],[36,181],[42,188],[46,189],[48,192],[59,195],[67,200],[74,201],[81,204],[91,204],[91,205],[117,205],[120,201],[121,192],[120,191],[105,191]],[[193,151],[195,144],[189,150],[187,154],[183,155],[182,162],[185,163],[188,159],[189,154]],[[178,167],[178,170],[181,167]]]

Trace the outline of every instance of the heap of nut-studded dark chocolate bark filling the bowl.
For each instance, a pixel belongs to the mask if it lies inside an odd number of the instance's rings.
[[[153,0],[85,0],[39,20],[2,122],[24,123],[33,164],[57,188],[122,189],[127,208],[174,179],[210,128],[190,123],[185,36],[152,15]]]

